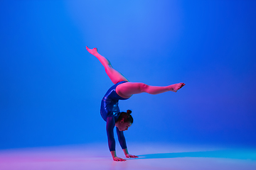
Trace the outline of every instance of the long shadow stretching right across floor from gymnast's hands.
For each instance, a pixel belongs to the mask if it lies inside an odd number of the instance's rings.
[[[159,159],[159,158],[178,158],[178,157],[210,157],[227,159],[248,159],[256,160],[256,152],[250,150],[219,150],[206,152],[178,152],[161,154],[142,154],[137,159]]]

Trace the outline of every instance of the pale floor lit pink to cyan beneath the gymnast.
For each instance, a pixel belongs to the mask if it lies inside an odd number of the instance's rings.
[[[113,162],[106,144],[6,149],[0,151],[0,169],[256,169],[255,149],[134,143],[129,152],[139,159]],[[124,157],[119,146],[117,156]]]

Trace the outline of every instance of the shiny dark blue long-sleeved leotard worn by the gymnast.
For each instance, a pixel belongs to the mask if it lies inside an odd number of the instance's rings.
[[[107,122],[107,140],[108,145],[110,147],[110,151],[115,150],[114,125],[120,115],[118,101],[128,99],[120,97],[115,91],[115,89],[119,84],[123,84],[126,82],[127,81],[120,81],[119,83],[114,84],[114,86],[110,87],[105,96],[102,98],[100,115],[102,115],[102,118]],[[119,131],[118,128],[116,129],[119,143],[122,149],[126,149],[127,145],[125,142],[124,132]]]

